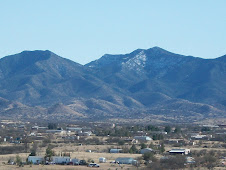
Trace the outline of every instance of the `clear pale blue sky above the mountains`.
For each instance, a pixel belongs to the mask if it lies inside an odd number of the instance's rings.
[[[50,50],[85,64],[159,46],[226,54],[226,0],[0,0],[0,58]]]

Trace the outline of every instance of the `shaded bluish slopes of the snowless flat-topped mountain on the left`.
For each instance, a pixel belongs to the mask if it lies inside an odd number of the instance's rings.
[[[91,73],[50,51],[25,51],[0,60],[0,96],[49,106],[75,97],[117,93]]]

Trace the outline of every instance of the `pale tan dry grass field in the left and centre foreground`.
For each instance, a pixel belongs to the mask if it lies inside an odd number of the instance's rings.
[[[97,153],[97,152],[86,152],[86,150],[106,150],[107,148],[111,147],[110,145],[84,145],[84,146],[74,146],[72,144],[69,145],[60,145],[59,147],[54,148],[56,154],[60,154],[61,152],[70,152],[71,158],[78,158],[78,159],[85,159],[87,160],[94,160],[95,163],[100,165],[98,169],[136,169],[136,167],[132,165],[118,165],[118,164],[111,164],[111,161],[114,161],[118,157],[132,157],[134,159],[141,157],[141,154],[125,154],[125,153]],[[38,149],[38,155],[44,156],[45,155],[45,148]],[[33,169],[42,169],[42,170],[82,170],[82,169],[96,169],[87,166],[71,166],[71,165],[25,165],[24,167],[18,167],[16,165],[5,165],[7,164],[10,158],[15,159],[17,154],[7,154],[7,155],[0,155],[0,170],[11,170],[11,169],[24,169],[24,170],[33,170]],[[26,158],[28,157],[29,153],[20,153],[19,156],[22,158],[22,161],[25,162]],[[107,159],[106,163],[99,163],[99,158],[105,157]]]

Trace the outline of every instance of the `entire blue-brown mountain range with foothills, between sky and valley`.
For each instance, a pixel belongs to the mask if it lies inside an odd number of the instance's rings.
[[[154,47],[80,65],[50,51],[24,51],[0,59],[0,81],[4,117],[199,120],[226,113],[226,56]]]

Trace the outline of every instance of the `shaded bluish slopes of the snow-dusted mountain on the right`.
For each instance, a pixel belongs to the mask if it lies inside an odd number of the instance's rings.
[[[126,90],[138,101],[146,93],[159,92],[212,104],[226,98],[225,58],[201,59],[154,47],[125,55],[104,55],[86,66],[100,79]]]

